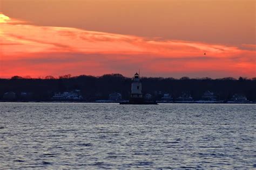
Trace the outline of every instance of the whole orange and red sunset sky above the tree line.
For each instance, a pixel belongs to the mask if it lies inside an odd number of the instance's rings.
[[[0,0],[0,77],[256,77],[255,2]]]

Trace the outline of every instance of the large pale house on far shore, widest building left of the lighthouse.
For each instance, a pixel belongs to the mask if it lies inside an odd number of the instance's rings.
[[[83,100],[80,90],[65,91],[63,93],[55,93],[52,100]]]

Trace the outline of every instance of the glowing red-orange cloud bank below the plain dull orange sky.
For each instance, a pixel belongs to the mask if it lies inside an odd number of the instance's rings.
[[[22,23],[22,24],[20,24]],[[159,40],[25,24],[0,13],[1,77],[121,73],[255,76],[255,45]],[[206,53],[206,55],[204,55]],[[218,73],[218,74],[215,74]]]

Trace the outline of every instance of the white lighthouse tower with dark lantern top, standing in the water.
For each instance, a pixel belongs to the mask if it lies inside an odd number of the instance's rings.
[[[142,98],[142,82],[139,80],[139,74],[136,73],[132,79],[131,99],[140,100]]]

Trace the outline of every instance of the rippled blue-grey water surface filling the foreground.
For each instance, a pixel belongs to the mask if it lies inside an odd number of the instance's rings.
[[[253,169],[255,109],[255,104],[0,103],[0,169]]]

